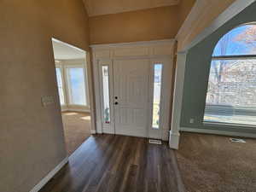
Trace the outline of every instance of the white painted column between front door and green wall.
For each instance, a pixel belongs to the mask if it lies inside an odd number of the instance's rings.
[[[185,76],[187,52],[177,53],[177,67],[174,84],[173,105],[172,105],[172,125],[169,137],[169,146],[178,149],[180,118],[183,102],[183,83]]]

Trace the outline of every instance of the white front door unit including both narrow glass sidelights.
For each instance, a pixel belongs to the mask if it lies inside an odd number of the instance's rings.
[[[166,140],[172,62],[160,58],[115,59],[98,64],[102,132]]]

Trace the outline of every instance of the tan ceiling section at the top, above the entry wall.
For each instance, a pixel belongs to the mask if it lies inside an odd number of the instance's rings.
[[[84,0],[89,16],[176,5],[180,0]]]

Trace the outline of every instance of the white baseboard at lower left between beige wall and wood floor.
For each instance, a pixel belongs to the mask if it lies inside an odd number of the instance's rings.
[[[55,176],[57,172],[61,170],[63,166],[65,166],[68,162],[68,157],[66,157],[64,160],[61,161],[61,163],[56,166],[52,171],[50,171],[47,176],[45,176],[30,192],[38,192],[40,189],[44,187],[46,183],[49,182],[49,180]]]

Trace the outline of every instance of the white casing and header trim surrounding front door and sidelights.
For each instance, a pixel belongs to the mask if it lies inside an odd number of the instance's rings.
[[[95,87],[95,99],[96,99],[96,133],[110,133],[114,134],[114,127],[106,130],[106,127],[102,125],[102,98],[101,98],[101,73],[100,73],[100,62],[108,61],[113,65],[114,60],[133,60],[133,59],[145,59],[150,61],[151,65],[154,62],[168,62],[170,72],[168,75],[168,69],[163,70],[165,79],[170,80],[172,85],[172,60],[173,60],[173,48],[175,40],[165,39],[159,41],[148,41],[148,42],[135,42],[125,44],[100,44],[91,45],[92,49],[92,61],[93,61],[93,74],[94,74],[94,87]],[[168,66],[166,64],[166,66]],[[113,73],[113,71],[112,71]],[[113,77],[109,79],[113,84]],[[166,81],[166,80],[165,80]],[[162,84],[161,94],[161,108],[165,112],[165,118],[161,125],[160,139],[168,140],[168,132],[170,131],[171,125],[171,86],[170,89],[165,89],[168,84]],[[113,91],[113,90],[110,90]],[[113,92],[112,92],[113,96]],[[110,98],[110,102],[113,102],[113,98]],[[113,110],[112,110],[113,111]],[[150,111],[150,110],[148,110]],[[113,114],[114,115],[114,114]],[[111,115],[112,116],[112,115]],[[113,116],[114,117],[114,116]],[[112,117],[112,121],[114,120]],[[150,116],[149,116],[150,117]],[[151,121],[151,120],[150,120]],[[113,122],[114,125],[114,122]],[[148,137],[150,133],[148,131]]]

